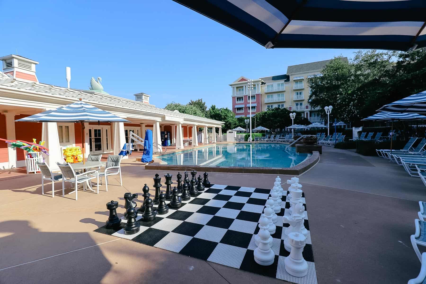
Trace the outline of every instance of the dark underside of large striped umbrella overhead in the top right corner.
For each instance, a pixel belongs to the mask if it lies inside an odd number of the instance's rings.
[[[426,46],[424,0],[174,0],[266,48]]]

